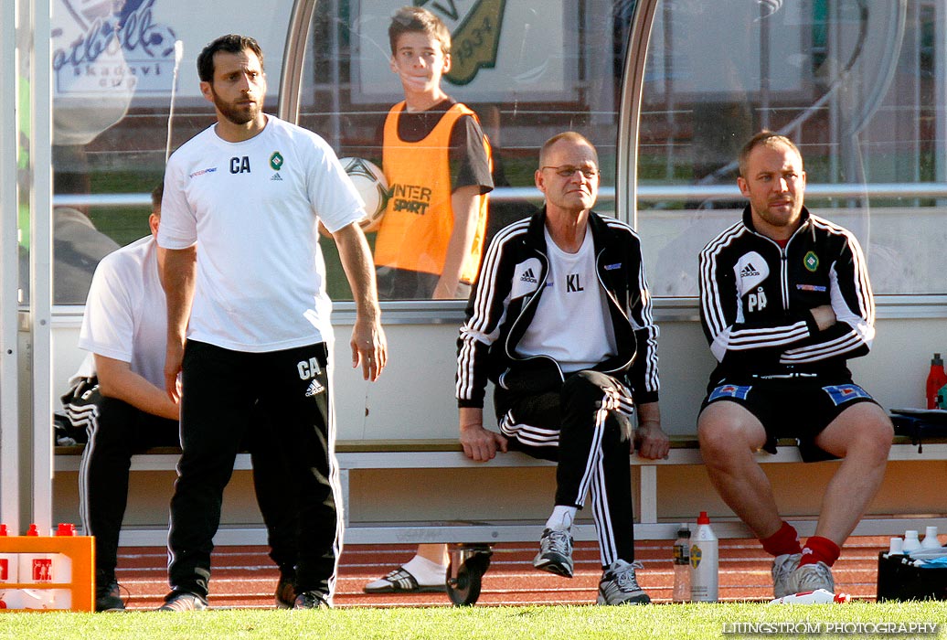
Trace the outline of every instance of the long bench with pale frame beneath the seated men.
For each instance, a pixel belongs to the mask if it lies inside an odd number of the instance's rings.
[[[920,449],[920,451],[919,451]],[[56,471],[79,471],[81,446],[57,447]],[[132,458],[133,471],[173,471],[180,450],[174,447],[155,448]],[[336,443],[340,479],[346,515],[346,542],[352,543],[415,543],[415,542],[523,542],[533,541],[541,530],[542,523],[528,520],[516,521],[464,521],[464,522],[391,522],[352,523],[349,500],[349,478],[352,472],[369,470],[426,470],[426,469],[503,469],[549,467],[553,463],[537,460],[524,453],[501,453],[489,463],[474,462],[467,458],[454,439],[438,440],[341,440]],[[795,441],[778,443],[776,454],[758,453],[760,463],[801,462]],[[891,461],[937,461],[947,460],[947,438],[925,439],[922,449],[906,436],[895,436]],[[661,522],[658,518],[658,469],[668,465],[703,465],[696,436],[671,436],[670,454],[665,460],[645,460],[633,455],[631,465],[636,484],[636,515],[634,535],[641,540],[670,540],[677,527],[677,520]],[[237,457],[235,470],[250,470],[250,455],[241,453]],[[706,490],[710,490],[709,487]],[[942,514],[923,514],[922,524],[937,524],[941,531],[947,530],[947,518]],[[802,535],[814,531],[814,519],[793,520]],[[892,517],[867,517],[855,530],[858,535],[895,535],[905,529],[920,526],[917,517],[901,514]],[[725,538],[749,537],[749,530],[736,518],[717,519],[714,529]],[[123,544],[163,544],[164,530],[123,531]],[[590,522],[576,524],[577,540],[596,540],[594,525]],[[215,539],[218,544],[262,544],[265,531],[258,527],[222,527]]]

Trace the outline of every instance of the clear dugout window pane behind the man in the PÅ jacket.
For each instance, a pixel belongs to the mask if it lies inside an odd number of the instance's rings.
[[[744,204],[739,148],[764,128],[799,145],[807,206],[856,234],[875,293],[944,293],[943,34],[922,0],[662,2],[637,168],[653,293],[697,294],[700,249]]]

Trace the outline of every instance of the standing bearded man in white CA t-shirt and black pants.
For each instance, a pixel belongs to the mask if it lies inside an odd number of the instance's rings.
[[[205,609],[221,499],[253,406],[269,418],[298,495],[295,607],[331,606],[341,547],[330,390],[331,301],[318,223],[355,299],[352,365],[366,380],[386,347],[365,212],[329,145],[263,113],[263,54],[227,35],[198,56],[217,123],[175,151],[158,243],[165,264],[165,385],[182,374],[183,454],[171,499],[165,611]],[[186,344],[187,336],[187,344]]]

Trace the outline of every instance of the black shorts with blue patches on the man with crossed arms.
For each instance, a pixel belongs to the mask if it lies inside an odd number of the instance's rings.
[[[792,378],[724,379],[707,394],[701,411],[721,400],[736,402],[759,419],[766,430],[765,451],[776,453],[777,440],[792,437],[805,462],[834,459],[815,445],[815,436],[853,404],[875,402],[850,377],[829,380],[799,374]]]

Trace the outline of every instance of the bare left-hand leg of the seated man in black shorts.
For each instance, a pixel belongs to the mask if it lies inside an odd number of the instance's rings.
[[[727,507],[759,539],[775,534],[782,519],[754,455],[766,442],[759,420],[736,402],[714,402],[697,419],[697,436],[710,482]]]

